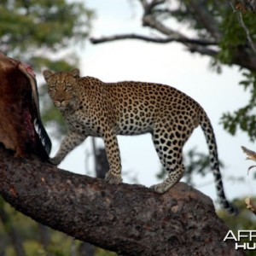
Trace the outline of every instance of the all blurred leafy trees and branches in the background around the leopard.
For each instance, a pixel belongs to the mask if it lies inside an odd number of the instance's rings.
[[[143,26],[149,27],[151,32],[158,32],[160,36],[153,38],[151,34],[133,33],[132,36],[114,35],[113,39],[137,38],[155,44],[176,41],[192,54],[197,52],[210,56],[212,68],[218,73],[221,73],[224,65],[241,67],[244,78],[241,86],[250,92],[250,100],[234,113],[224,113],[221,122],[224,129],[232,135],[236,135],[236,131],[241,129],[255,141],[256,55],[239,22],[240,9],[236,9],[235,13],[230,6],[231,3],[237,8],[235,1],[176,1],[171,7],[167,0],[133,1],[139,2],[144,10]],[[242,19],[255,42],[255,14],[244,2],[241,1],[241,6],[244,7]],[[96,10],[86,8],[84,2],[3,0],[0,4],[0,50],[32,64],[38,74],[46,67],[59,71],[79,66],[78,51],[89,38],[95,12]],[[170,26],[170,19],[187,26],[194,37],[178,33]],[[109,40],[106,37],[103,41]],[[91,41],[97,43],[95,38]],[[52,108],[44,85],[40,87],[40,95],[44,106],[44,121],[49,125],[50,131],[55,135],[65,133],[63,120],[55,108]],[[188,182],[192,183],[193,172],[208,172],[205,154],[191,150],[186,159]],[[242,207],[242,201],[239,203]],[[79,252],[82,247],[79,241],[73,241],[72,238],[51,230],[40,230],[38,224],[15,212],[3,201],[0,203],[0,210],[0,255],[85,255],[83,250]],[[234,230],[254,227],[253,218],[248,217],[247,212],[241,214],[236,224],[231,223],[224,213],[220,214],[223,214],[221,216]],[[49,237],[46,244],[43,236]],[[85,251],[88,252],[88,249]],[[100,249],[96,249],[94,253],[112,255]]]

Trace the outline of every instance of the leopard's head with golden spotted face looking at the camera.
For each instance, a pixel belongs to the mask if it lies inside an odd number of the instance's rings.
[[[56,108],[64,110],[74,101],[79,69],[75,68],[71,72],[52,73],[44,70],[44,79],[48,84],[48,93]]]

